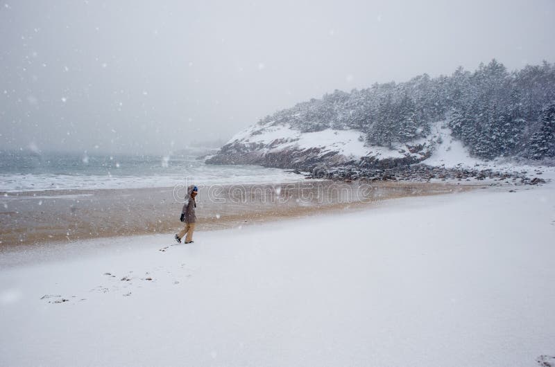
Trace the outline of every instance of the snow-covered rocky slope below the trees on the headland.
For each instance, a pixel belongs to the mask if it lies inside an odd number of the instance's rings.
[[[461,141],[452,137],[445,122],[434,123],[430,133],[391,147],[370,145],[357,129],[324,129],[301,132],[288,123],[256,124],[235,134],[207,163],[261,164],[278,168],[311,170],[315,166],[359,163],[362,158],[387,160],[395,165],[426,163],[445,167],[472,167],[484,161],[470,156]]]

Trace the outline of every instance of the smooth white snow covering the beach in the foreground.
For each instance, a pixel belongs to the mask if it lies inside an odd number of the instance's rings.
[[[555,355],[555,184],[513,190],[0,255],[0,365],[536,366]]]

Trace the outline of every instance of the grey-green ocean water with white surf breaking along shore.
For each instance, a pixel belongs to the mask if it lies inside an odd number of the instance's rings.
[[[300,174],[257,165],[207,165],[196,156],[0,152],[0,191],[149,188],[194,183],[300,181]]]

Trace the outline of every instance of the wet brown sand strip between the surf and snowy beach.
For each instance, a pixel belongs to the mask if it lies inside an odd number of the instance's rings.
[[[200,187],[196,231],[368,208],[398,197],[477,188],[452,183],[302,181]],[[183,187],[0,193],[0,251],[22,244],[177,233]]]

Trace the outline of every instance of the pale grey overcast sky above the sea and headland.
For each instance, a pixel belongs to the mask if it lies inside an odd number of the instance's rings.
[[[0,4],[0,149],[167,154],[334,89],[555,61],[554,0]]]

